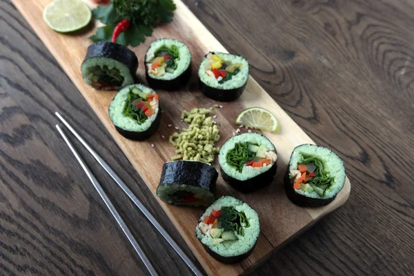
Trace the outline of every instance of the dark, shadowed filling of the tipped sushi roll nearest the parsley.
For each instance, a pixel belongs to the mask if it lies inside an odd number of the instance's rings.
[[[87,69],[87,75],[90,76],[91,86],[96,89],[110,88],[115,89],[122,86],[124,77],[117,68],[109,68],[108,66],[93,66]]]

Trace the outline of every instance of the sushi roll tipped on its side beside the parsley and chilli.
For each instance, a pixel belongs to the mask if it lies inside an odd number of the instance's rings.
[[[137,68],[135,52],[108,41],[90,45],[81,65],[83,81],[100,90],[119,90],[134,83]]]

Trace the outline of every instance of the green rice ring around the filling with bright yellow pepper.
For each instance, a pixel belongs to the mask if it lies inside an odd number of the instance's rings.
[[[208,61],[207,57],[204,57],[201,61],[200,67],[199,67],[199,78],[200,80],[205,83],[207,86],[210,86],[212,88],[217,89],[223,89],[223,90],[230,90],[235,88],[240,88],[244,86],[244,83],[246,83],[248,79],[248,61],[244,57],[240,57],[237,55],[230,55],[226,54],[224,52],[214,52],[215,55],[223,59],[223,61],[230,61],[231,63],[242,63],[243,65],[240,66],[237,70],[237,74],[233,75],[230,79],[227,81],[219,81],[213,76],[209,76],[206,73],[206,62]]]

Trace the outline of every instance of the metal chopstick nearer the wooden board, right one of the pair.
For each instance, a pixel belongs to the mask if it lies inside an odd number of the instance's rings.
[[[72,134],[75,135],[75,137],[77,137],[77,139],[81,142],[81,144],[83,144],[83,146],[85,146],[85,148],[98,161],[98,163],[102,166],[102,168],[104,170],[106,170],[106,172],[108,172],[110,177],[112,177],[112,179],[114,179],[115,182],[117,182],[117,184],[121,187],[121,189],[124,190],[126,195],[128,195],[128,197],[132,200],[132,202],[134,202],[134,204],[139,208],[139,210],[141,210],[141,212],[146,216],[146,218],[151,222],[151,224],[158,230],[158,232],[164,237],[164,239],[166,239],[168,244],[170,244],[170,246],[175,250],[175,252],[177,252],[179,257],[181,257],[181,259],[183,259],[183,261],[193,271],[193,273],[197,276],[202,276],[203,274],[200,272],[200,270],[197,268],[197,266],[195,266],[195,264],[193,264],[193,262],[191,262],[190,258],[187,257],[186,253],[184,253],[184,251],[181,250],[181,248],[179,248],[178,244],[174,241],[174,239],[172,239],[172,237],[170,235],[168,235],[166,230],[164,230],[164,228],[162,228],[161,224],[159,224],[157,219],[155,219],[155,217],[153,217],[151,215],[150,211],[148,211],[148,209],[144,206],[144,204],[142,204],[141,201],[139,201],[139,199],[134,195],[134,193],[132,193],[132,190],[130,190],[128,188],[128,186],[126,186],[126,184],[124,184],[124,181],[122,181],[119,178],[119,176],[112,170],[112,168],[110,168],[110,166],[108,164],[106,164],[106,161],[104,161],[97,154],[97,152],[95,152],[95,150],[93,150],[88,145],[88,143],[86,143],[86,141],[83,140],[81,135],[79,135],[79,133],[74,128],[72,128],[72,126],[70,126],[70,124],[65,119],[63,119],[63,117],[61,117],[59,112],[55,112],[55,115],[70,130],[70,132],[72,132]]]

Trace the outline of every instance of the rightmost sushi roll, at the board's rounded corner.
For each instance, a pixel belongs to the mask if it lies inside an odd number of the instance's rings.
[[[299,206],[330,204],[345,184],[345,167],[335,152],[322,146],[297,146],[286,170],[286,195]]]

